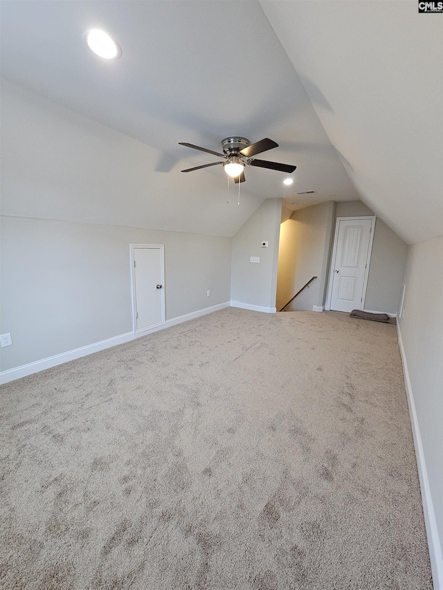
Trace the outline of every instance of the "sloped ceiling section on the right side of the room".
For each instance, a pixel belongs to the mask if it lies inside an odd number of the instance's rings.
[[[443,234],[443,15],[417,2],[261,1],[361,199]]]

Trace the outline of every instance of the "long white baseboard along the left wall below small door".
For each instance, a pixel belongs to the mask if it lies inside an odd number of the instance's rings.
[[[194,320],[195,317],[199,317],[200,315],[206,315],[206,313],[212,313],[213,311],[218,311],[219,309],[223,309],[229,306],[230,302],[225,302],[220,303],[218,305],[205,307],[197,311],[192,311],[192,313],[186,313],[185,315],[172,317],[170,320],[166,320],[164,324],[156,326],[155,328],[147,329],[143,332],[127,332],[125,334],[113,336],[112,338],[107,338],[106,340],[100,340],[100,342],[87,344],[87,346],[80,347],[78,349],[73,349],[70,351],[62,352],[60,354],[55,354],[54,356],[42,358],[41,360],[35,360],[34,362],[28,362],[26,365],[21,365],[20,367],[14,367],[13,369],[1,371],[0,385],[3,385],[3,383],[14,381],[15,379],[20,379],[21,377],[32,375],[33,373],[39,373],[39,371],[44,371],[45,369],[51,369],[51,367],[62,365],[64,362],[69,362],[70,360],[75,360],[76,358],[87,356],[88,354],[93,354],[95,352],[99,352],[107,348],[115,347],[118,344],[125,344],[125,342],[130,342],[131,340],[135,340],[136,338],[141,338],[142,336],[158,332],[159,330],[169,328],[170,326],[181,324],[181,322],[188,322],[188,320]]]

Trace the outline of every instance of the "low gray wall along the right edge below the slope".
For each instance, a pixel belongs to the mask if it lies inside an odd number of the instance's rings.
[[[443,547],[443,237],[409,247],[399,320],[440,546]],[[441,559],[441,557],[440,557]]]

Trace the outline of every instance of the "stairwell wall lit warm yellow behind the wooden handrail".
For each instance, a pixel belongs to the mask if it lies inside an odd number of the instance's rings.
[[[280,228],[277,308],[280,309],[316,276],[309,288],[287,308],[309,310],[321,306],[327,282],[334,202],[320,203],[294,212]]]

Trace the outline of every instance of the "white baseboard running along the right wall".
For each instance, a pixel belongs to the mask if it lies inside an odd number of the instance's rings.
[[[431,571],[433,577],[434,590],[443,589],[443,555],[442,555],[442,541],[440,540],[437,522],[435,520],[435,512],[433,500],[431,496],[431,489],[429,488],[428,472],[426,470],[426,461],[424,459],[424,451],[422,445],[422,437],[420,436],[419,423],[417,419],[417,412],[415,411],[415,402],[413,389],[410,385],[410,378],[408,373],[408,362],[406,360],[406,353],[404,351],[403,340],[401,340],[401,331],[399,322],[397,321],[397,335],[399,338],[399,348],[401,362],[403,364],[404,382],[406,386],[406,395],[408,396],[410,422],[413,429],[413,439],[415,446],[415,456],[417,457],[417,468],[420,481],[420,490],[422,491],[422,503],[424,512],[424,522],[426,524],[426,535],[428,537],[429,558],[431,560]]]

